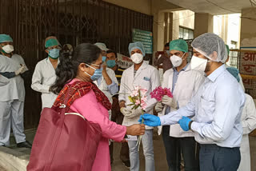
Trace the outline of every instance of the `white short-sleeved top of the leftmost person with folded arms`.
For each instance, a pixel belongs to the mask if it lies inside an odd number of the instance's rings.
[[[0,55],[0,72],[15,72],[25,62],[21,56],[14,54],[11,58]],[[2,76],[1,76],[2,77]],[[9,83],[0,86],[0,101],[25,100],[25,87],[23,78],[18,75],[9,79]]]

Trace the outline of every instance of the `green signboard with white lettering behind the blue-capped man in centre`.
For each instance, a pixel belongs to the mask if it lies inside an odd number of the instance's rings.
[[[142,42],[146,54],[153,54],[153,34],[150,31],[133,29],[133,42]]]

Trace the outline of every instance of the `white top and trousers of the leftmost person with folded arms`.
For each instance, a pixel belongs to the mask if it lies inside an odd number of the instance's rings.
[[[18,54],[13,54],[11,58],[0,55],[0,72],[14,72],[22,65],[26,64]],[[23,78],[20,75],[10,78],[6,85],[0,86],[0,94],[0,145],[10,145],[10,127],[13,129],[17,143],[26,141],[23,125],[25,101]]]

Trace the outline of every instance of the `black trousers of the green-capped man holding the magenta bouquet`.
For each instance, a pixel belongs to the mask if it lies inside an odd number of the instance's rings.
[[[184,158],[185,171],[199,170],[197,143],[194,137],[170,137],[170,126],[162,127],[162,139],[166,147],[166,159],[169,171],[180,171],[181,153]]]

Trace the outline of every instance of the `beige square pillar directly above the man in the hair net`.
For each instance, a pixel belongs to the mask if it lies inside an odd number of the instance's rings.
[[[214,16],[207,13],[195,13],[194,38],[201,34],[214,32]]]

